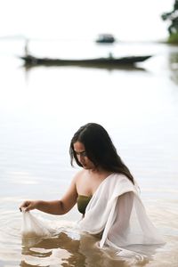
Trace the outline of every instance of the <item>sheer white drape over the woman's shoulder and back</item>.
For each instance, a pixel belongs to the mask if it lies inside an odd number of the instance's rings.
[[[91,234],[101,233],[100,247],[164,243],[146,214],[137,185],[123,174],[110,174],[101,182],[79,228]]]

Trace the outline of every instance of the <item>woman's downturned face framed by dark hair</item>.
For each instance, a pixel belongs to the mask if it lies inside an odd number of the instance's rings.
[[[85,146],[82,142],[75,142],[74,150],[77,155],[77,160],[83,166],[83,168],[85,168],[86,170],[95,168],[93,162],[87,157],[85,152]]]

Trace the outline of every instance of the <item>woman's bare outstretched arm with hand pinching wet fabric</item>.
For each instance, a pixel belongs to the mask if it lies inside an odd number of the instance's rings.
[[[68,213],[69,210],[77,203],[76,179],[77,177],[74,177],[69,186],[69,190],[67,190],[60,200],[26,200],[20,206],[20,211],[38,209],[47,214],[61,215]]]

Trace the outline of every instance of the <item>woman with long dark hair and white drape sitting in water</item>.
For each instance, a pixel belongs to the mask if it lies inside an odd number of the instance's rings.
[[[111,141],[98,124],[81,126],[69,148],[71,165],[82,167],[60,200],[26,200],[20,209],[38,209],[48,214],[66,214],[77,204],[83,214],[81,231],[100,234],[100,248],[114,247],[118,255],[130,254],[125,247],[163,244],[142,205],[137,183]]]

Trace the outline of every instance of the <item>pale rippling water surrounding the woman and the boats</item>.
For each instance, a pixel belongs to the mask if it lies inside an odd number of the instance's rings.
[[[23,45],[0,42],[0,266],[177,266],[178,47],[36,40],[29,50],[40,56],[153,57],[135,69],[25,69],[16,57]],[[91,121],[109,131],[140,184],[151,221],[166,239],[166,246],[148,248],[150,258],[143,262],[116,260],[96,247],[96,238],[72,231],[34,240],[31,247],[21,243],[20,203],[61,198],[77,172],[69,165],[70,138]],[[80,218],[76,207],[61,217],[40,215],[59,224]]]

